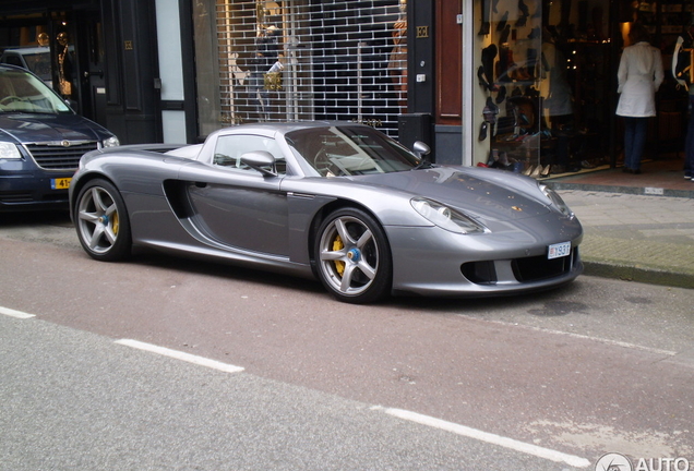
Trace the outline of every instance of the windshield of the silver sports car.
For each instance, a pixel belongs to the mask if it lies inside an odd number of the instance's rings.
[[[400,144],[366,126],[309,128],[285,138],[321,177],[398,172],[420,164]]]

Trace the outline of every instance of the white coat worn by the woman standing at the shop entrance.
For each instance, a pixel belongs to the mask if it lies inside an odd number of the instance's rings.
[[[662,83],[660,49],[646,41],[624,48],[617,73],[620,95],[617,114],[632,118],[656,116],[656,92]]]

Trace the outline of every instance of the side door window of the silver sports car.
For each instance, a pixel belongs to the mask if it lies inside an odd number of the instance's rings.
[[[277,174],[285,174],[287,164],[279,146],[274,138],[252,135],[227,135],[217,140],[215,147],[214,165],[236,168],[240,170],[251,170],[241,162],[241,156],[249,152],[265,150],[275,157],[275,171]]]

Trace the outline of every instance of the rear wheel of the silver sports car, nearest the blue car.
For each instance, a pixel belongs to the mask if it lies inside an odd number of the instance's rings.
[[[93,180],[80,191],[74,208],[80,243],[93,258],[115,262],[130,255],[130,220],[120,193],[106,180]]]

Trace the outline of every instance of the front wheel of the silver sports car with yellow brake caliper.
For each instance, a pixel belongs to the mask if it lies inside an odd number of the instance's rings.
[[[315,259],[323,286],[339,301],[374,302],[391,289],[393,268],[385,233],[362,210],[338,209],[323,221]]]

